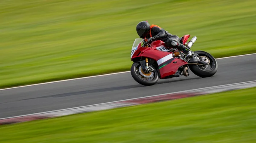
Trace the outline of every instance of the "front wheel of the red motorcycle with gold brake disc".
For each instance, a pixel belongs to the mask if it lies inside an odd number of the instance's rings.
[[[157,70],[154,67],[153,69],[154,71],[148,71],[148,73],[145,73],[145,71],[142,70],[140,63],[136,62],[131,66],[131,76],[139,84],[151,86],[156,84],[159,79]]]

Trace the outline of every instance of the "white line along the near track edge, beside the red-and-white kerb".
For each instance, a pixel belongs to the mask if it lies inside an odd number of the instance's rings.
[[[23,117],[23,116],[40,115],[40,114],[46,114],[46,113],[58,112],[58,111],[65,111],[65,110],[70,110],[70,109],[79,109],[79,108],[84,108],[84,107],[92,107],[92,106],[97,106],[97,105],[102,105],[102,104],[112,104],[112,103],[117,103],[117,102],[122,102],[122,101],[129,101],[129,100],[135,100],[135,99],[141,99],[141,98],[149,98],[149,97],[168,95],[168,94],[189,93],[189,92],[193,92],[193,91],[207,90],[207,89],[211,90],[213,88],[218,88],[218,87],[227,87],[227,86],[232,86],[232,85],[236,85],[236,84],[239,85],[239,84],[255,83],[255,82],[256,82],[256,80],[254,80],[254,81],[239,82],[239,83],[234,83],[234,84],[224,84],[224,85],[218,85],[218,86],[213,86],[213,87],[204,87],[204,88],[198,88],[198,89],[192,89],[192,90],[184,90],[184,91],[178,91],[178,92],[173,92],[173,93],[164,93],[164,94],[150,95],[150,96],[130,98],[130,99],[119,100],[119,101],[105,102],[105,103],[100,103],[100,104],[86,105],[86,106],[81,106],[81,107],[58,109],[58,110],[39,112],[39,113],[34,113],[34,114],[27,114],[27,115],[13,116],[13,117],[7,117],[7,118],[0,118],[0,120],[9,119],[9,118],[18,118],[18,117]],[[246,87],[246,88],[248,88],[248,87]],[[244,88],[242,88],[242,89],[244,89]]]

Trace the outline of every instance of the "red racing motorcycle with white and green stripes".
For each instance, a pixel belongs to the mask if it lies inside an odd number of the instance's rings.
[[[190,35],[180,38],[180,43],[191,48],[197,37],[189,42]],[[163,41],[157,40],[148,43],[148,39],[137,38],[131,50],[131,76],[139,84],[150,86],[157,83],[158,79],[189,76],[189,69],[202,78],[213,76],[218,69],[215,58],[205,51],[194,51],[190,57],[174,47],[166,48]],[[176,43],[172,43],[175,45]]]

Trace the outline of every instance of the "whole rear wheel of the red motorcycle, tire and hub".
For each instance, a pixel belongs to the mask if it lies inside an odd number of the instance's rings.
[[[198,64],[189,64],[190,70],[195,73],[195,75],[200,76],[202,78],[210,77],[215,75],[218,70],[218,64],[215,58],[205,52],[205,51],[195,51],[195,54],[198,54],[199,59],[202,62],[207,62],[207,65],[198,65]]]

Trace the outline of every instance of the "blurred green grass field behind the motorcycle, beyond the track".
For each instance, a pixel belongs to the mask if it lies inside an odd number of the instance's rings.
[[[138,22],[215,58],[255,53],[255,0],[1,0],[0,87],[129,70]]]

